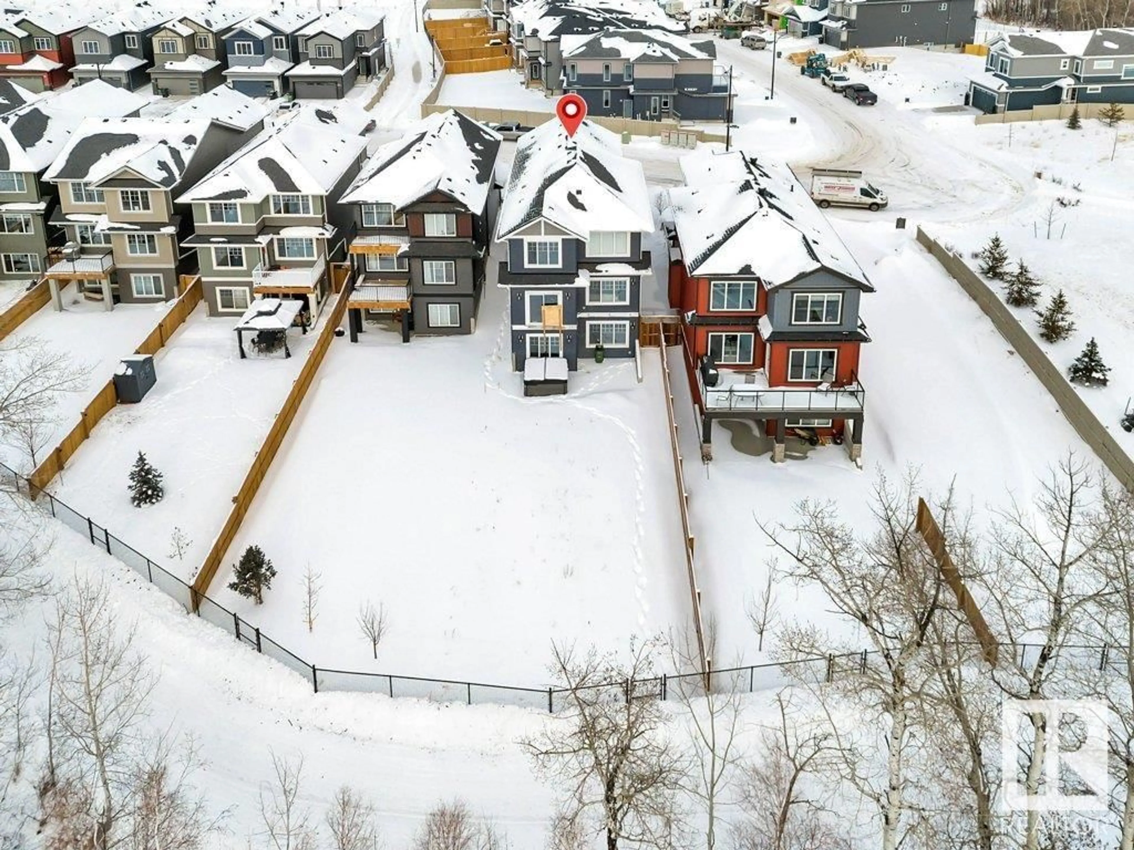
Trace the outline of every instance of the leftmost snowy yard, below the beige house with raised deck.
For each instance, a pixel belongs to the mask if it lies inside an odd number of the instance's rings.
[[[73,286],[62,290],[62,300],[61,312],[49,301],[3,342],[19,345],[35,338],[50,351],[66,356],[76,372],[85,369],[81,389],[60,396],[50,414],[53,427],[43,440],[49,450],[78,424],[79,413],[113,376],[119,359],[134,354],[169,308],[166,304],[119,304],[107,312],[102,301],[86,300]],[[3,443],[0,461],[19,471],[32,467],[22,448]]]

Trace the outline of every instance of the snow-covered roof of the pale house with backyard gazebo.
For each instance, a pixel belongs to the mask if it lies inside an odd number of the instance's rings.
[[[177,202],[259,202],[278,193],[325,195],[365,150],[361,136],[288,121],[253,138]]]

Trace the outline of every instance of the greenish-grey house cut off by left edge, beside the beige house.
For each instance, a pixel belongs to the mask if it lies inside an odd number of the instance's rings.
[[[61,236],[49,227],[54,187],[43,173],[87,116],[136,117],[139,95],[93,82],[0,116],[0,279],[37,280]],[[93,237],[91,229],[84,235]]]

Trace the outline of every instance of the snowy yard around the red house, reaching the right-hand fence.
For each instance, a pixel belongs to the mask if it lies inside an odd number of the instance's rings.
[[[863,296],[862,308],[874,340],[862,355],[862,470],[837,445],[785,464],[772,464],[768,454],[745,454],[734,448],[729,432],[748,430],[744,423],[717,423],[713,460],[699,468],[687,384],[674,382],[683,451],[689,459],[686,481],[702,602],[720,628],[719,665],[742,655],[746,663],[763,660],[745,617],[773,556],[758,521],[790,522],[794,503],[811,498],[831,500],[847,522],[865,529],[877,475],[898,482],[908,469],[919,470],[926,495],[941,493],[955,479],[958,503],[978,511],[1002,503],[1008,490],[1030,503],[1038,476],[1069,449],[1093,460],[1039,381],[912,233],[836,223],[878,288]],[[780,564],[786,566],[782,558]],[[801,589],[784,578],[776,586],[781,622],[799,617],[846,628],[816,588]],[[764,649],[773,646],[765,643]]]

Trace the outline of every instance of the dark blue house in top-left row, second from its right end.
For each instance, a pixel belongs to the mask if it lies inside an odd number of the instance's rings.
[[[290,88],[285,74],[299,61],[296,33],[319,17],[314,9],[277,9],[225,33],[225,79],[253,97],[278,97]]]

